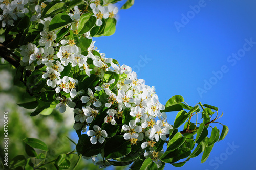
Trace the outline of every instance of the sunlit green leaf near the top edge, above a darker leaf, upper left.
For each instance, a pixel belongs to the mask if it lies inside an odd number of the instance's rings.
[[[66,5],[62,1],[52,1],[42,10],[42,18],[46,18],[62,11],[66,11]],[[50,31],[50,30],[49,30]]]

